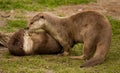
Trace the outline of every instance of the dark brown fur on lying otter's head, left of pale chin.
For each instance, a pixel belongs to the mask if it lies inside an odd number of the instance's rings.
[[[23,51],[23,36],[24,30],[19,30],[15,32],[8,41],[8,49],[11,54],[23,56],[25,52]]]

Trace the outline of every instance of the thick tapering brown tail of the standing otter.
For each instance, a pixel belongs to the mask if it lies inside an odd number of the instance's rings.
[[[103,63],[108,51],[109,51],[108,44],[107,45],[105,45],[105,43],[98,44],[94,56],[88,61],[86,61],[84,64],[82,64],[80,68],[91,67]]]

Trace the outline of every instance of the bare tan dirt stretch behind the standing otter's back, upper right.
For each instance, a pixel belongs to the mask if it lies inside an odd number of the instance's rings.
[[[85,10],[95,10],[120,20],[120,0],[98,0],[97,3],[89,3],[87,5],[62,6],[57,8],[55,12],[71,15]]]

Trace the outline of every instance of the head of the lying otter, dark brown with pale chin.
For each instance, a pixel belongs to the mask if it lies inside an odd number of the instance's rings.
[[[32,54],[33,41],[23,29],[15,32],[8,41],[8,49],[12,55],[24,56]]]

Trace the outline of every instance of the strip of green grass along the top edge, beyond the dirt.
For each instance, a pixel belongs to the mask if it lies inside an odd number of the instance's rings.
[[[87,4],[96,0],[0,0],[1,10],[42,10],[61,5]]]

